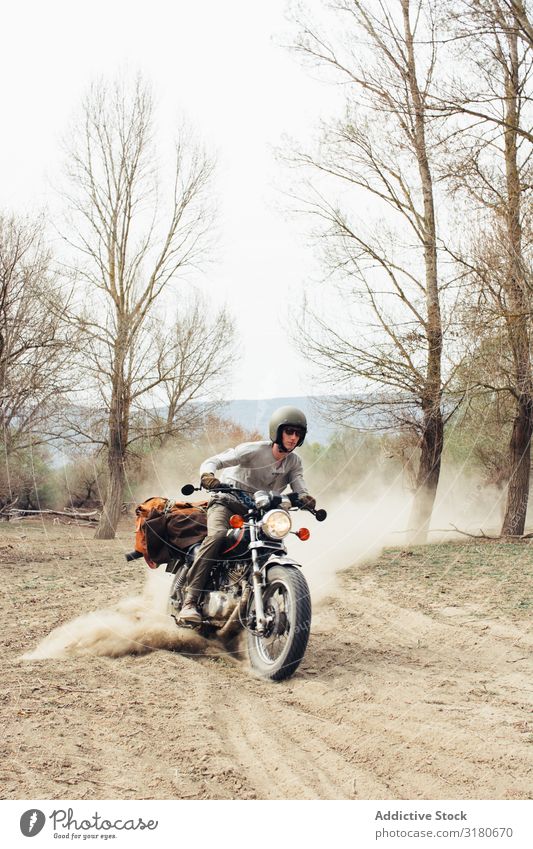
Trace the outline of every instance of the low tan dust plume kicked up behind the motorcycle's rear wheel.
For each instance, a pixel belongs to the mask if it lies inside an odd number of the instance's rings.
[[[209,645],[199,634],[177,628],[166,612],[171,576],[148,572],[144,591],[114,607],[78,616],[55,628],[23,660],[50,658],[122,657],[154,649],[184,654],[204,652]]]

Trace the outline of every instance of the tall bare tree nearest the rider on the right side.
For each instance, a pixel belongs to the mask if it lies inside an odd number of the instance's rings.
[[[346,117],[327,128],[318,154],[295,159],[312,169],[315,186],[324,177],[308,207],[326,225],[321,236],[327,259],[348,280],[355,318],[348,327],[335,327],[327,316],[315,315],[303,328],[303,343],[337,385],[359,381],[358,396],[352,389],[345,402],[348,413],[374,411],[379,415],[373,424],[418,434],[409,525],[414,540],[424,541],[443,448],[448,329],[432,166],[437,136],[428,109],[437,66],[437,6],[430,0],[340,0],[334,8],[347,43],[340,36],[333,43],[304,23],[297,50],[345,84]],[[381,219],[372,228],[357,217],[369,198],[390,223]]]

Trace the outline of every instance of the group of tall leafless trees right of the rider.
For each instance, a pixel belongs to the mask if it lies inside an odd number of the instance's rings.
[[[300,346],[340,387],[331,415],[364,415],[369,429],[410,441],[416,542],[426,539],[445,428],[457,440],[476,414],[508,439],[503,452],[478,428],[471,446],[507,487],[502,534],[524,532],[530,22],[530,4],[514,0],[336,0],[321,20],[300,11],[296,21],[293,50],[345,100],[316,145],[288,154],[327,275],[300,316]]]

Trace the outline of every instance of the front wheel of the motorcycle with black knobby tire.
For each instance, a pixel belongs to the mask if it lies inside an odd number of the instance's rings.
[[[268,628],[263,636],[248,632],[252,669],[263,678],[290,678],[305,654],[311,629],[311,597],[296,566],[272,566],[263,589]],[[255,605],[251,604],[252,618]]]

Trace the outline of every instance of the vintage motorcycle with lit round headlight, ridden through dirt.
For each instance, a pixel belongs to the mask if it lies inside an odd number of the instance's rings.
[[[186,496],[198,491],[192,484],[181,490]],[[305,509],[319,522],[327,513],[304,507],[296,493],[250,495],[226,484],[211,491],[231,495],[244,506],[246,515],[235,514],[229,520],[227,546],[213,564],[200,597],[201,624],[179,619],[187,574],[200,543],[179,551],[167,563],[166,571],[174,575],[169,613],[179,627],[194,628],[208,638],[227,641],[244,630],[252,669],[272,681],[289,678],[307,647],[311,597],[301,566],[287,553],[285,539],[291,532],[300,540],[310,537],[307,528],[291,530],[291,513]]]

